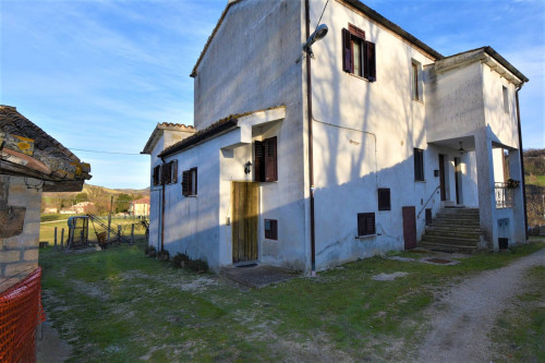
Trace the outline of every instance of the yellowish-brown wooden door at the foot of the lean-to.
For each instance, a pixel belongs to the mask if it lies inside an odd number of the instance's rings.
[[[233,263],[256,261],[259,184],[232,182],[231,201]]]

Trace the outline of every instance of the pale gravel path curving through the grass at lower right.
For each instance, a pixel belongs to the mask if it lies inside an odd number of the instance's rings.
[[[545,266],[545,250],[452,287],[429,308],[431,331],[417,362],[491,362],[487,335],[510,299],[523,293],[524,274],[536,265]]]

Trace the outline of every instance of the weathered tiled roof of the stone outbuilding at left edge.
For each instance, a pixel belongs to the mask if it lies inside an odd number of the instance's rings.
[[[41,179],[59,190],[81,190],[90,166],[48,135],[15,107],[0,105],[0,172]],[[46,184],[46,185],[47,185]],[[48,187],[44,186],[45,191]],[[70,190],[68,190],[70,189]],[[56,190],[55,187],[50,189]]]

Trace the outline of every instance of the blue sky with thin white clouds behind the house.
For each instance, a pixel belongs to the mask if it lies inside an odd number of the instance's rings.
[[[495,48],[530,78],[524,148],[545,147],[545,1],[364,2],[445,56]],[[0,0],[0,104],[90,162],[92,184],[146,187],[137,154],[157,122],[193,124],[189,74],[226,4]]]

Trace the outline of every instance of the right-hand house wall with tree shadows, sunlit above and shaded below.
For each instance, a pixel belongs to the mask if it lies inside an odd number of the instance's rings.
[[[312,1],[317,20],[325,1]],[[438,149],[428,147],[425,102],[411,95],[412,60],[433,60],[343,4],[330,1],[329,33],[313,46],[314,170],[317,268],[403,249],[401,207],[438,209]],[[370,83],[342,71],[341,29],[350,24],[376,45]],[[312,27],[315,24],[311,25]],[[421,76],[423,74],[421,73]],[[422,85],[422,84],[421,84]],[[413,149],[424,149],[425,181],[414,181]],[[389,187],[391,210],[378,211],[377,187]],[[375,213],[378,235],[356,240],[358,213]],[[417,218],[417,238],[424,213]]]

